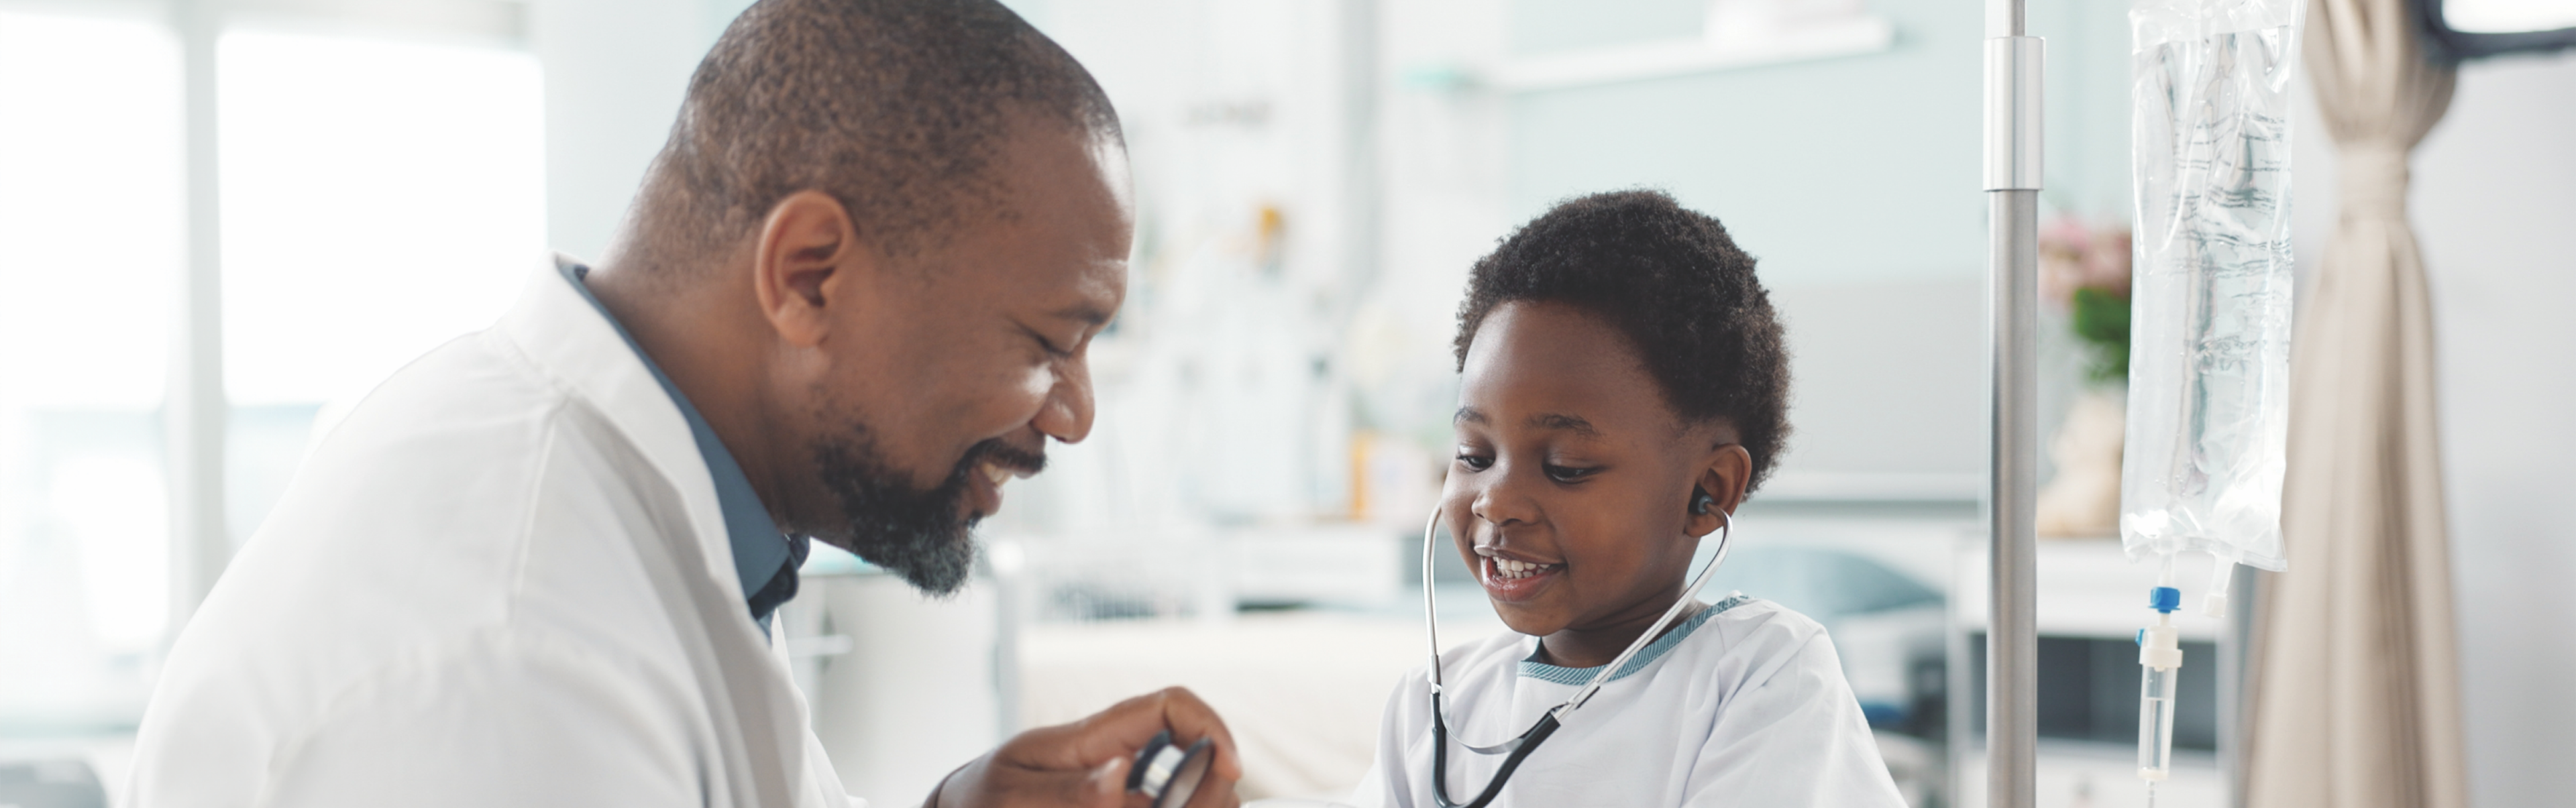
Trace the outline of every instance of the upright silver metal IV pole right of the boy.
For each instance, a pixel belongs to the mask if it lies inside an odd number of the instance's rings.
[[[1986,229],[1994,347],[1991,618],[1986,623],[1986,805],[2032,808],[2038,746],[2038,219],[2040,64],[2022,0],[1986,0]]]

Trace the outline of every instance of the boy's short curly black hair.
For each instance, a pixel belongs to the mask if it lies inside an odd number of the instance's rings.
[[[1589,309],[1628,335],[1664,401],[1692,422],[1726,419],[1754,458],[1749,494],[1788,440],[1788,347],[1754,257],[1718,219],[1662,190],[1556,203],[1468,273],[1458,368],[1486,314],[1512,301]]]

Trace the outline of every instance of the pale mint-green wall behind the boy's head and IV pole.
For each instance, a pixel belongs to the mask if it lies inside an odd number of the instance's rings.
[[[1945,481],[1932,489],[1973,499],[1986,471],[1984,18],[1940,0],[1862,5],[1896,26],[1891,49],[1515,93],[1507,214],[1654,185],[1718,216],[1759,257],[1788,324],[1795,432],[1767,491],[1873,497]],[[1690,36],[1705,3],[1510,10],[1510,49],[1546,54]],[[2045,206],[2125,219],[2123,5],[2030,0],[2030,31],[2048,39]],[[2043,363],[2040,427],[2053,430],[2081,365],[2058,319]]]

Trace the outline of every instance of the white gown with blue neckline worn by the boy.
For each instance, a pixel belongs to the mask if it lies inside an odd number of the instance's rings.
[[[1533,661],[1502,633],[1440,656],[1450,721],[1448,795],[1468,803],[1502,754],[1458,746],[1520,736],[1597,669]],[[1396,684],[1355,805],[1430,808],[1430,684]],[[1512,772],[1494,808],[1540,805],[1904,805],[1824,625],[1728,597],[1664,633]]]

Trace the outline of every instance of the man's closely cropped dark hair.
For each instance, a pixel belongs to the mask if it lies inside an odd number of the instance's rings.
[[[1007,214],[992,162],[1025,126],[1121,142],[1108,93],[994,0],[760,0],[698,62],[636,201],[647,262],[706,262],[799,190],[891,255]]]

